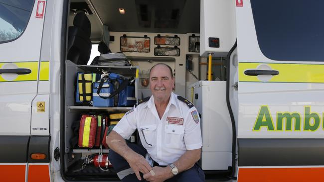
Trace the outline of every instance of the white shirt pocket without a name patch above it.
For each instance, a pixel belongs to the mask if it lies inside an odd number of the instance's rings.
[[[157,141],[157,125],[144,125],[140,127],[140,136],[142,144],[145,148],[156,146]]]

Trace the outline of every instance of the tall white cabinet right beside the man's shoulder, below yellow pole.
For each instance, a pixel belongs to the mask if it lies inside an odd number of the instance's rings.
[[[190,91],[201,119],[201,168],[226,171],[231,166],[232,156],[232,128],[226,107],[226,82],[198,81],[190,86]]]

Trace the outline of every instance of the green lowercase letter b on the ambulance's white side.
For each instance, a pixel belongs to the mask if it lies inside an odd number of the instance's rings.
[[[320,115],[316,112],[311,113],[311,106],[305,106],[304,109],[304,131],[316,131],[320,127]],[[313,118],[314,123],[310,123]]]

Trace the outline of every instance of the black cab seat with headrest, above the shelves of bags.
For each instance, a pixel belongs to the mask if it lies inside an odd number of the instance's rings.
[[[91,53],[91,24],[88,17],[79,12],[69,27],[67,59],[78,65],[86,65]]]

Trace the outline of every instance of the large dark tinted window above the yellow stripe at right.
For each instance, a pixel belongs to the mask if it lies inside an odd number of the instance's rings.
[[[272,60],[324,61],[323,0],[251,0],[259,47]]]

